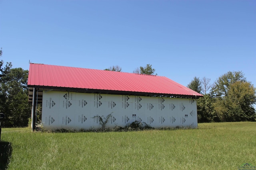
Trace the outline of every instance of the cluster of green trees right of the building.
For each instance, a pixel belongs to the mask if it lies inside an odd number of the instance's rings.
[[[243,72],[227,72],[213,84],[208,78],[197,78],[188,88],[204,94],[197,100],[198,122],[256,121],[256,88]]]

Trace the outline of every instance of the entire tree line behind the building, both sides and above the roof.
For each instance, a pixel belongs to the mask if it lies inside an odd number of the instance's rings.
[[[2,49],[0,49],[2,57]],[[120,66],[110,66],[105,70],[118,71]],[[155,74],[151,64],[135,68],[136,74]],[[28,104],[28,70],[12,68],[12,63],[0,61],[0,112],[5,114],[2,127],[26,127],[31,115]],[[255,121],[256,89],[246,81],[242,72],[228,72],[210,84],[208,78],[197,78],[188,88],[204,94],[197,100],[198,122]],[[41,107],[39,107],[41,108]]]

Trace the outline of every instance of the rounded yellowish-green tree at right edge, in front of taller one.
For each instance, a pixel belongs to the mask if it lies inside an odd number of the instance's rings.
[[[250,82],[237,81],[229,86],[226,96],[217,98],[215,105],[222,121],[255,121],[256,88]]]

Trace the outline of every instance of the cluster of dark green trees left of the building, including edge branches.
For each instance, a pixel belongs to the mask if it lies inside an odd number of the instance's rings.
[[[2,49],[0,50],[2,57]],[[0,112],[2,127],[26,127],[30,117],[28,105],[28,70],[12,68],[12,63],[0,61]]]

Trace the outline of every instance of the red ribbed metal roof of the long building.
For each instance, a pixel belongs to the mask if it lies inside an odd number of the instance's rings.
[[[164,76],[34,63],[30,63],[28,86],[202,96]]]

